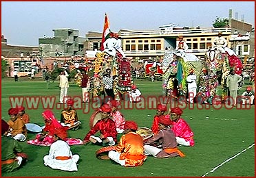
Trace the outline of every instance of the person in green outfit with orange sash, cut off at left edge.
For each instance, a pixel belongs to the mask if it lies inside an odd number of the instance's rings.
[[[10,173],[28,160],[17,140],[7,137],[9,125],[1,120],[1,172]]]

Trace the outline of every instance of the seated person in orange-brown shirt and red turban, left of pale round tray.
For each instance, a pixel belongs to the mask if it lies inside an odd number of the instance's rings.
[[[21,118],[19,118],[19,109],[10,108],[8,110],[10,120],[8,121],[9,129],[6,136],[10,136],[18,141],[25,141],[27,139],[27,128]]]

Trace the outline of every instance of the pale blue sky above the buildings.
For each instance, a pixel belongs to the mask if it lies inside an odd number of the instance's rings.
[[[103,32],[107,13],[111,31],[158,30],[169,23],[180,27],[213,27],[218,16],[233,18],[255,27],[254,1],[2,1],[1,34],[8,44],[38,46],[39,38],[54,37],[52,29]]]

